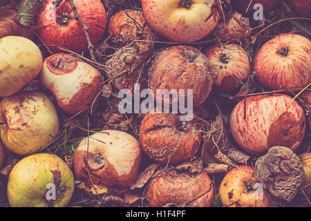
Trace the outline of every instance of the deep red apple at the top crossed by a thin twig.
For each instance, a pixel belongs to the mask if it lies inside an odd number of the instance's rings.
[[[56,8],[53,17],[53,1],[43,2],[43,9],[39,13],[37,26],[40,37],[48,44],[63,46],[74,52],[81,53],[88,50],[88,42],[80,21],[75,19],[73,9],[69,1],[62,1]],[[88,35],[93,45],[97,44],[104,36],[106,29],[106,10],[100,0],[73,0],[77,13],[88,26]],[[68,21],[62,23],[62,15],[68,15]],[[56,52],[62,52],[57,47],[50,47]]]

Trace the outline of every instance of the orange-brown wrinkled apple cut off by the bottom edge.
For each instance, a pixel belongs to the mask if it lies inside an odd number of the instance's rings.
[[[168,204],[187,207],[209,207],[214,189],[205,172],[189,173],[176,169],[162,169],[153,177],[146,190],[151,207]]]

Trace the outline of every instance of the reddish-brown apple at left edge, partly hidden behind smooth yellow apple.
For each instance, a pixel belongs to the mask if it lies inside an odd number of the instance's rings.
[[[0,8],[0,39],[2,37],[17,35],[33,39],[33,33],[30,28],[21,25],[15,20],[17,11],[9,7]]]

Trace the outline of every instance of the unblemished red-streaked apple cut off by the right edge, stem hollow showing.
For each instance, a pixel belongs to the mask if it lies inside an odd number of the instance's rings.
[[[286,48],[288,53],[278,53]],[[311,41],[292,33],[274,37],[256,53],[254,71],[267,88],[303,88],[311,82]]]

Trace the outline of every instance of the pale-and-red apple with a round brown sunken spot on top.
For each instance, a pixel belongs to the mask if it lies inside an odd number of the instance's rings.
[[[102,75],[96,68],[64,53],[46,58],[39,78],[55,95],[62,111],[72,115],[93,102],[103,86]]]

